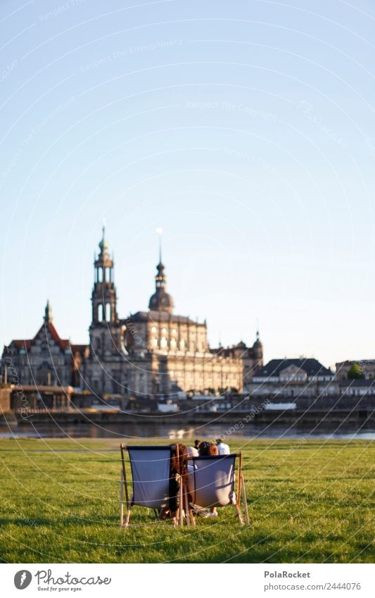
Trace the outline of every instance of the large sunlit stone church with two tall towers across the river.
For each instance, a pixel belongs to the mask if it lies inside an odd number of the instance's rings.
[[[262,366],[262,344],[211,349],[207,323],[174,314],[159,256],[148,311],[117,316],[113,258],[103,237],[94,262],[92,321],[84,383],[96,394],[169,395],[243,390]]]

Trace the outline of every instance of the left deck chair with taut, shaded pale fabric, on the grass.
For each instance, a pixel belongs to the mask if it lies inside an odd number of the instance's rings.
[[[120,527],[129,527],[132,506],[160,509],[168,505],[170,491],[170,458],[172,447],[125,447],[121,449]],[[125,449],[132,469],[132,497],[129,499],[125,469]],[[124,491],[126,517],[124,523]]]

